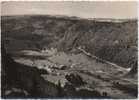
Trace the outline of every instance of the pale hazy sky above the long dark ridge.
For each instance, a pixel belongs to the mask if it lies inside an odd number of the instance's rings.
[[[137,2],[92,1],[92,2],[21,2],[1,3],[1,15],[67,15],[82,18],[137,18]]]

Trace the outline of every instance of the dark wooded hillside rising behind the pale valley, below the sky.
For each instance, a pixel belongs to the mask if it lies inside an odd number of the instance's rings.
[[[137,67],[137,19],[25,15],[2,16],[1,22],[2,41],[11,53],[44,47],[63,51],[83,47],[122,67]]]

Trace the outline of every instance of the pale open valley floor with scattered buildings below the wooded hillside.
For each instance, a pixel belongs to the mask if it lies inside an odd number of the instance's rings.
[[[40,52],[24,50],[18,52],[13,58],[18,63],[48,71],[49,74],[41,76],[54,84],[60,81],[64,86],[68,81],[65,76],[76,73],[87,83],[76,89],[97,90],[101,94],[107,93],[110,98],[137,97],[137,78],[126,77],[128,69],[103,62],[79,49],[75,51],[65,53],[57,52],[55,49]]]

